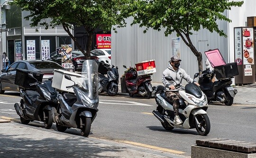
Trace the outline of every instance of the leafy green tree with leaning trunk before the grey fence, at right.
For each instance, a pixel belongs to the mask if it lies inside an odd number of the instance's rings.
[[[216,21],[224,20],[231,22],[222,13],[230,10],[231,7],[241,7],[243,1],[234,2],[229,0],[124,0],[125,5],[120,8],[120,16],[133,17],[131,25],[139,24],[146,29],[153,28],[160,31],[165,27],[165,36],[177,33],[184,43],[191,49],[197,57],[198,68],[202,70],[202,54],[198,52],[192,44],[192,31],[206,28],[210,32],[217,32],[220,36],[225,36],[225,32],[220,30]]]

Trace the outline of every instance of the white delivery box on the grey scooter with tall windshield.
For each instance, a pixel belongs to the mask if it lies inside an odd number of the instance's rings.
[[[74,82],[72,80],[65,79],[64,74],[68,74],[71,79],[77,84],[79,81],[82,82],[83,76],[81,74],[70,72],[66,70],[54,70],[52,87],[60,91],[66,91],[74,93],[73,88],[66,88],[66,86],[72,86]]]

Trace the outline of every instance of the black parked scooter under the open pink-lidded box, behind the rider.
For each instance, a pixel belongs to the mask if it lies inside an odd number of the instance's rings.
[[[232,78],[219,79],[215,82],[211,80],[214,78],[214,70],[207,68],[202,71],[199,77],[198,83],[201,90],[205,93],[208,103],[210,101],[219,101],[225,105],[232,105],[235,95],[238,93],[237,89],[234,89],[232,84]]]

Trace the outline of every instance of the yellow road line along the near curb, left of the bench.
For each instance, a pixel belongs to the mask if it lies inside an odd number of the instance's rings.
[[[160,148],[160,147],[155,147],[155,146],[152,146],[152,145],[137,143],[137,142],[133,142],[133,141],[127,141],[127,140],[115,140],[115,141],[122,142],[122,143],[127,143],[127,144],[132,144],[132,145],[137,145],[137,146],[140,146],[140,147],[145,147],[145,148],[150,148],[150,149],[156,149],[156,150],[171,152],[171,153],[175,153],[175,154],[184,154],[185,153],[183,151]]]

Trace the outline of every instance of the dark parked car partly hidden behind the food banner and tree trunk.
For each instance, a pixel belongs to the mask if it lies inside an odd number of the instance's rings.
[[[56,52],[53,52],[51,54],[52,54],[51,59],[48,59],[48,60],[49,61],[55,61],[55,62],[57,62],[58,64],[61,65],[61,59],[62,59],[61,54],[58,54]],[[90,59],[98,61],[99,58],[97,56],[94,56],[94,55],[91,54]],[[85,56],[83,55],[83,53],[80,50],[73,50],[72,51],[72,62],[73,62],[75,71],[82,70],[82,63],[85,60],[86,60]]]

